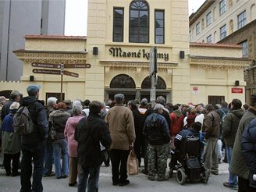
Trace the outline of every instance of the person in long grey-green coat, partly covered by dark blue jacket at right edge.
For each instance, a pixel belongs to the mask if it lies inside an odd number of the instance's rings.
[[[244,113],[242,119],[240,119],[240,123],[236,131],[236,139],[233,145],[230,165],[230,172],[238,176],[237,191],[239,192],[255,191],[253,187],[250,187],[250,170],[241,149],[241,138],[244,129],[254,118],[256,118],[256,94],[251,94],[250,108]]]

